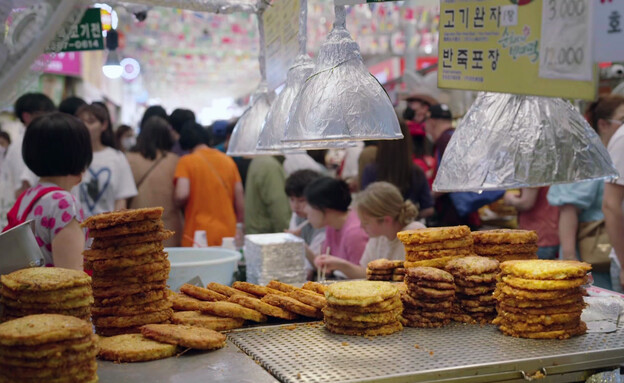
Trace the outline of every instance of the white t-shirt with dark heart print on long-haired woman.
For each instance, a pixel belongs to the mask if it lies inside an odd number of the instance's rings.
[[[91,166],[72,193],[80,199],[85,218],[113,211],[115,201],[136,196],[136,184],[126,156],[112,148],[93,153]]]

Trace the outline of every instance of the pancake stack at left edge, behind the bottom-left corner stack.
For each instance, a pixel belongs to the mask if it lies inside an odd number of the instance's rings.
[[[91,277],[60,267],[22,269],[1,277],[3,319],[33,314],[71,315],[91,319]]]

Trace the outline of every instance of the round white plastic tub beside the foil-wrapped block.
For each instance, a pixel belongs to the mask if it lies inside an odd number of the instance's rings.
[[[229,286],[241,259],[239,252],[221,247],[168,247],[165,251],[171,262],[167,283],[173,291],[189,281],[196,284],[197,277],[204,286],[210,282]]]

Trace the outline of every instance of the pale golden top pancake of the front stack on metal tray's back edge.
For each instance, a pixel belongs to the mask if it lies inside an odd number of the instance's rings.
[[[330,304],[368,306],[392,298],[398,293],[396,286],[387,282],[348,281],[330,285],[325,297]]]

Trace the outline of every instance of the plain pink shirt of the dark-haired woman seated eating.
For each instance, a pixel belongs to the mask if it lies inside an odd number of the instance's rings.
[[[351,210],[342,229],[336,230],[329,226],[325,229],[325,242],[321,246],[321,254],[325,254],[329,246],[331,255],[359,265],[367,243],[368,235],[360,226],[357,212]]]

